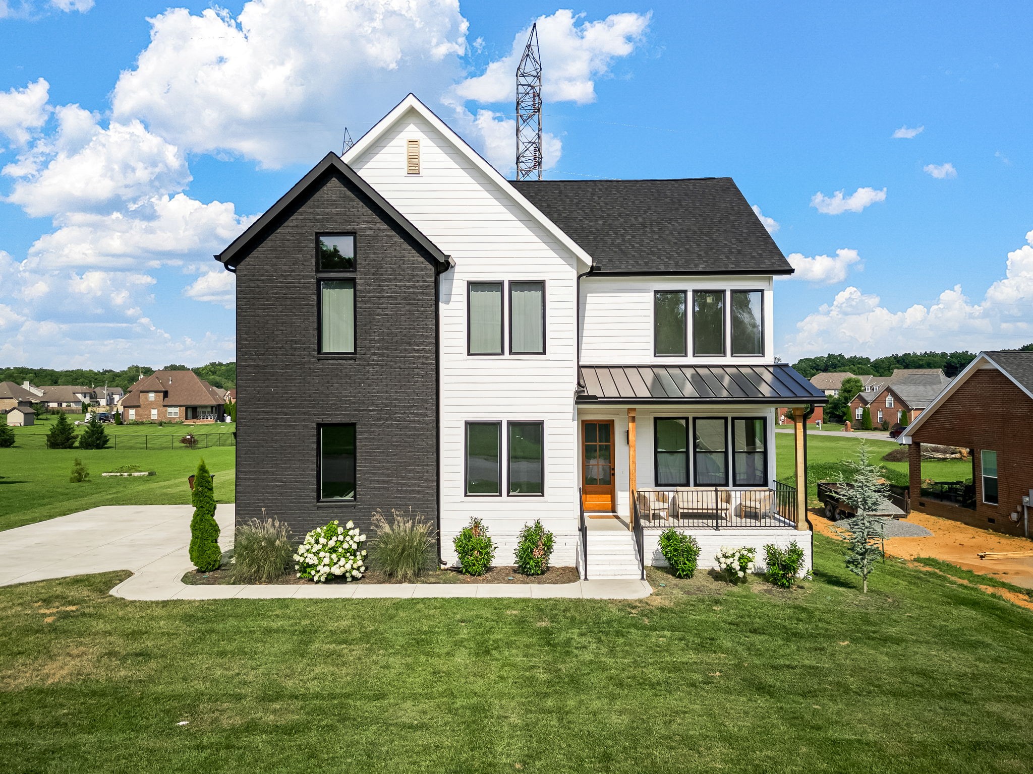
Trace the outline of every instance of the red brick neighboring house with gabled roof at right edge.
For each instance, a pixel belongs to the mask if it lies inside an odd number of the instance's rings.
[[[1031,440],[1033,352],[980,352],[901,436],[911,447],[911,503],[936,516],[1028,537]],[[928,486],[922,492],[922,444],[971,450],[974,507],[934,499]]]

